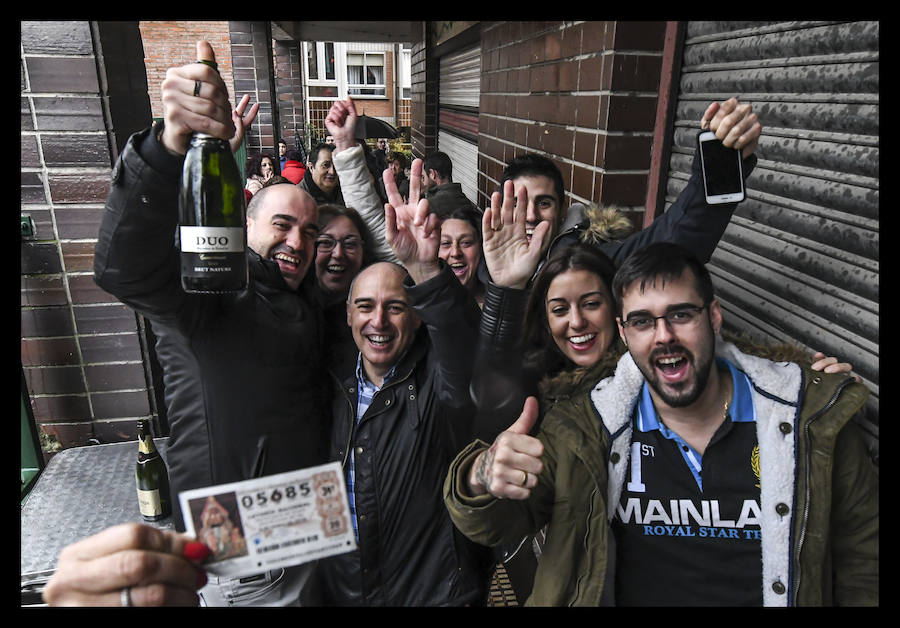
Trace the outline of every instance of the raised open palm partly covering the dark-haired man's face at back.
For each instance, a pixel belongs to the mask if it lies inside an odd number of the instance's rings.
[[[538,223],[529,242],[525,236],[528,191],[524,185],[518,193],[514,190],[513,182],[506,181],[502,200],[500,192],[491,195],[491,206],[482,218],[482,254],[491,281],[498,286],[524,288],[540,262],[550,224]]]

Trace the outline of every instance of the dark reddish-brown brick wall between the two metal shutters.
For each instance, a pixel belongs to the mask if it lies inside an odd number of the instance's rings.
[[[664,38],[665,22],[483,24],[479,205],[510,159],[537,151],[568,202],[631,207],[640,224]]]

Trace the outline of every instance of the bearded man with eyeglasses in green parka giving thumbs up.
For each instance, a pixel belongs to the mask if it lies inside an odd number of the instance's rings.
[[[536,605],[877,605],[878,485],[852,421],[868,390],[722,341],[709,272],[677,245],[629,257],[613,294],[615,375],[536,437],[529,399],[464,450],[457,527],[495,545],[549,523]]]

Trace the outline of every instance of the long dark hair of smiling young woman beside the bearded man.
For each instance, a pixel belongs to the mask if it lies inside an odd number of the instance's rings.
[[[571,366],[550,335],[547,320],[547,292],[556,277],[569,270],[585,270],[603,280],[612,297],[612,282],[616,267],[596,246],[576,242],[555,253],[541,268],[531,288],[525,310],[525,352],[529,361],[541,363],[548,375],[554,375]]]

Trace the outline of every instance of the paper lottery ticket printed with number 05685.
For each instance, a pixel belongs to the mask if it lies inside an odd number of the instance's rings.
[[[179,494],[185,530],[213,551],[203,568],[244,576],[356,549],[339,462]]]

